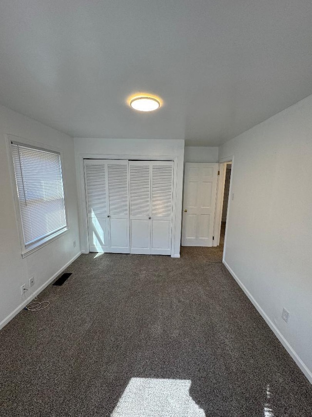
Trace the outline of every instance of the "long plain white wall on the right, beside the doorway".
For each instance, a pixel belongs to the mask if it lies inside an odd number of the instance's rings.
[[[225,143],[229,155],[224,261],[312,382],[312,96]]]

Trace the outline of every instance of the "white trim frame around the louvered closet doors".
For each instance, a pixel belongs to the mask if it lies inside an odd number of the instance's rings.
[[[87,199],[86,187],[84,180],[84,159],[125,159],[125,160],[149,160],[149,161],[173,161],[174,163],[174,181],[173,181],[173,201],[172,201],[172,239],[171,239],[171,257],[179,258],[179,254],[175,254],[175,238],[176,238],[176,205],[177,205],[177,191],[178,191],[178,162],[183,166],[183,160],[179,161],[178,156],[170,155],[118,155],[118,154],[78,154],[78,176],[80,187],[78,187],[79,205],[82,214],[80,222],[80,242],[82,246],[82,253],[89,253],[89,236],[88,236],[88,220],[87,220]],[[183,159],[183,158],[182,158]],[[182,212],[181,212],[182,213]]]

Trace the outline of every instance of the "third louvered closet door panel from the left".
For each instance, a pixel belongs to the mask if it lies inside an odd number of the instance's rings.
[[[130,253],[151,253],[151,162],[129,161]]]

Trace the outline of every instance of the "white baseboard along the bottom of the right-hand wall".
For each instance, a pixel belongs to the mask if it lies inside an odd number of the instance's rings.
[[[252,294],[248,291],[248,289],[245,287],[245,285],[239,280],[237,275],[234,273],[232,268],[226,263],[225,260],[223,260],[223,264],[227,268],[227,270],[230,272],[230,274],[233,276],[233,278],[237,282],[237,284],[241,287],[241,289],[247,295],[247,297],[250,299],[250,301],[253,303],[254,307],[258,310],[258,312],[261,314],[261,316],[266,321],[266,323],[269,325],[270,329],[273,331],[273,333],[275,334],[277,339],[281,342],[281,344],[284,346],[286,351],[288,351],[288,353],[291,355],[292,359],[298,365],[300,370],[305,374],[305,376],[307,377],[309,382],[312,384],[312,372],[305,365],[305,363],[300,359],[298,354],[292,349],[292,346],[287,342],[287,340],[282,335],[282,333],[277,329],[277,327],[275,326],[273,321],[265,313],[265,311],[262,309],[262,307],[256,302],[256,300],[254,299]]]

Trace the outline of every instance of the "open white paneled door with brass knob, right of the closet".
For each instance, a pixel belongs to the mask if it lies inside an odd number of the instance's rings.
[[[212,246],[218,164],[186,163],[182,246]]]

